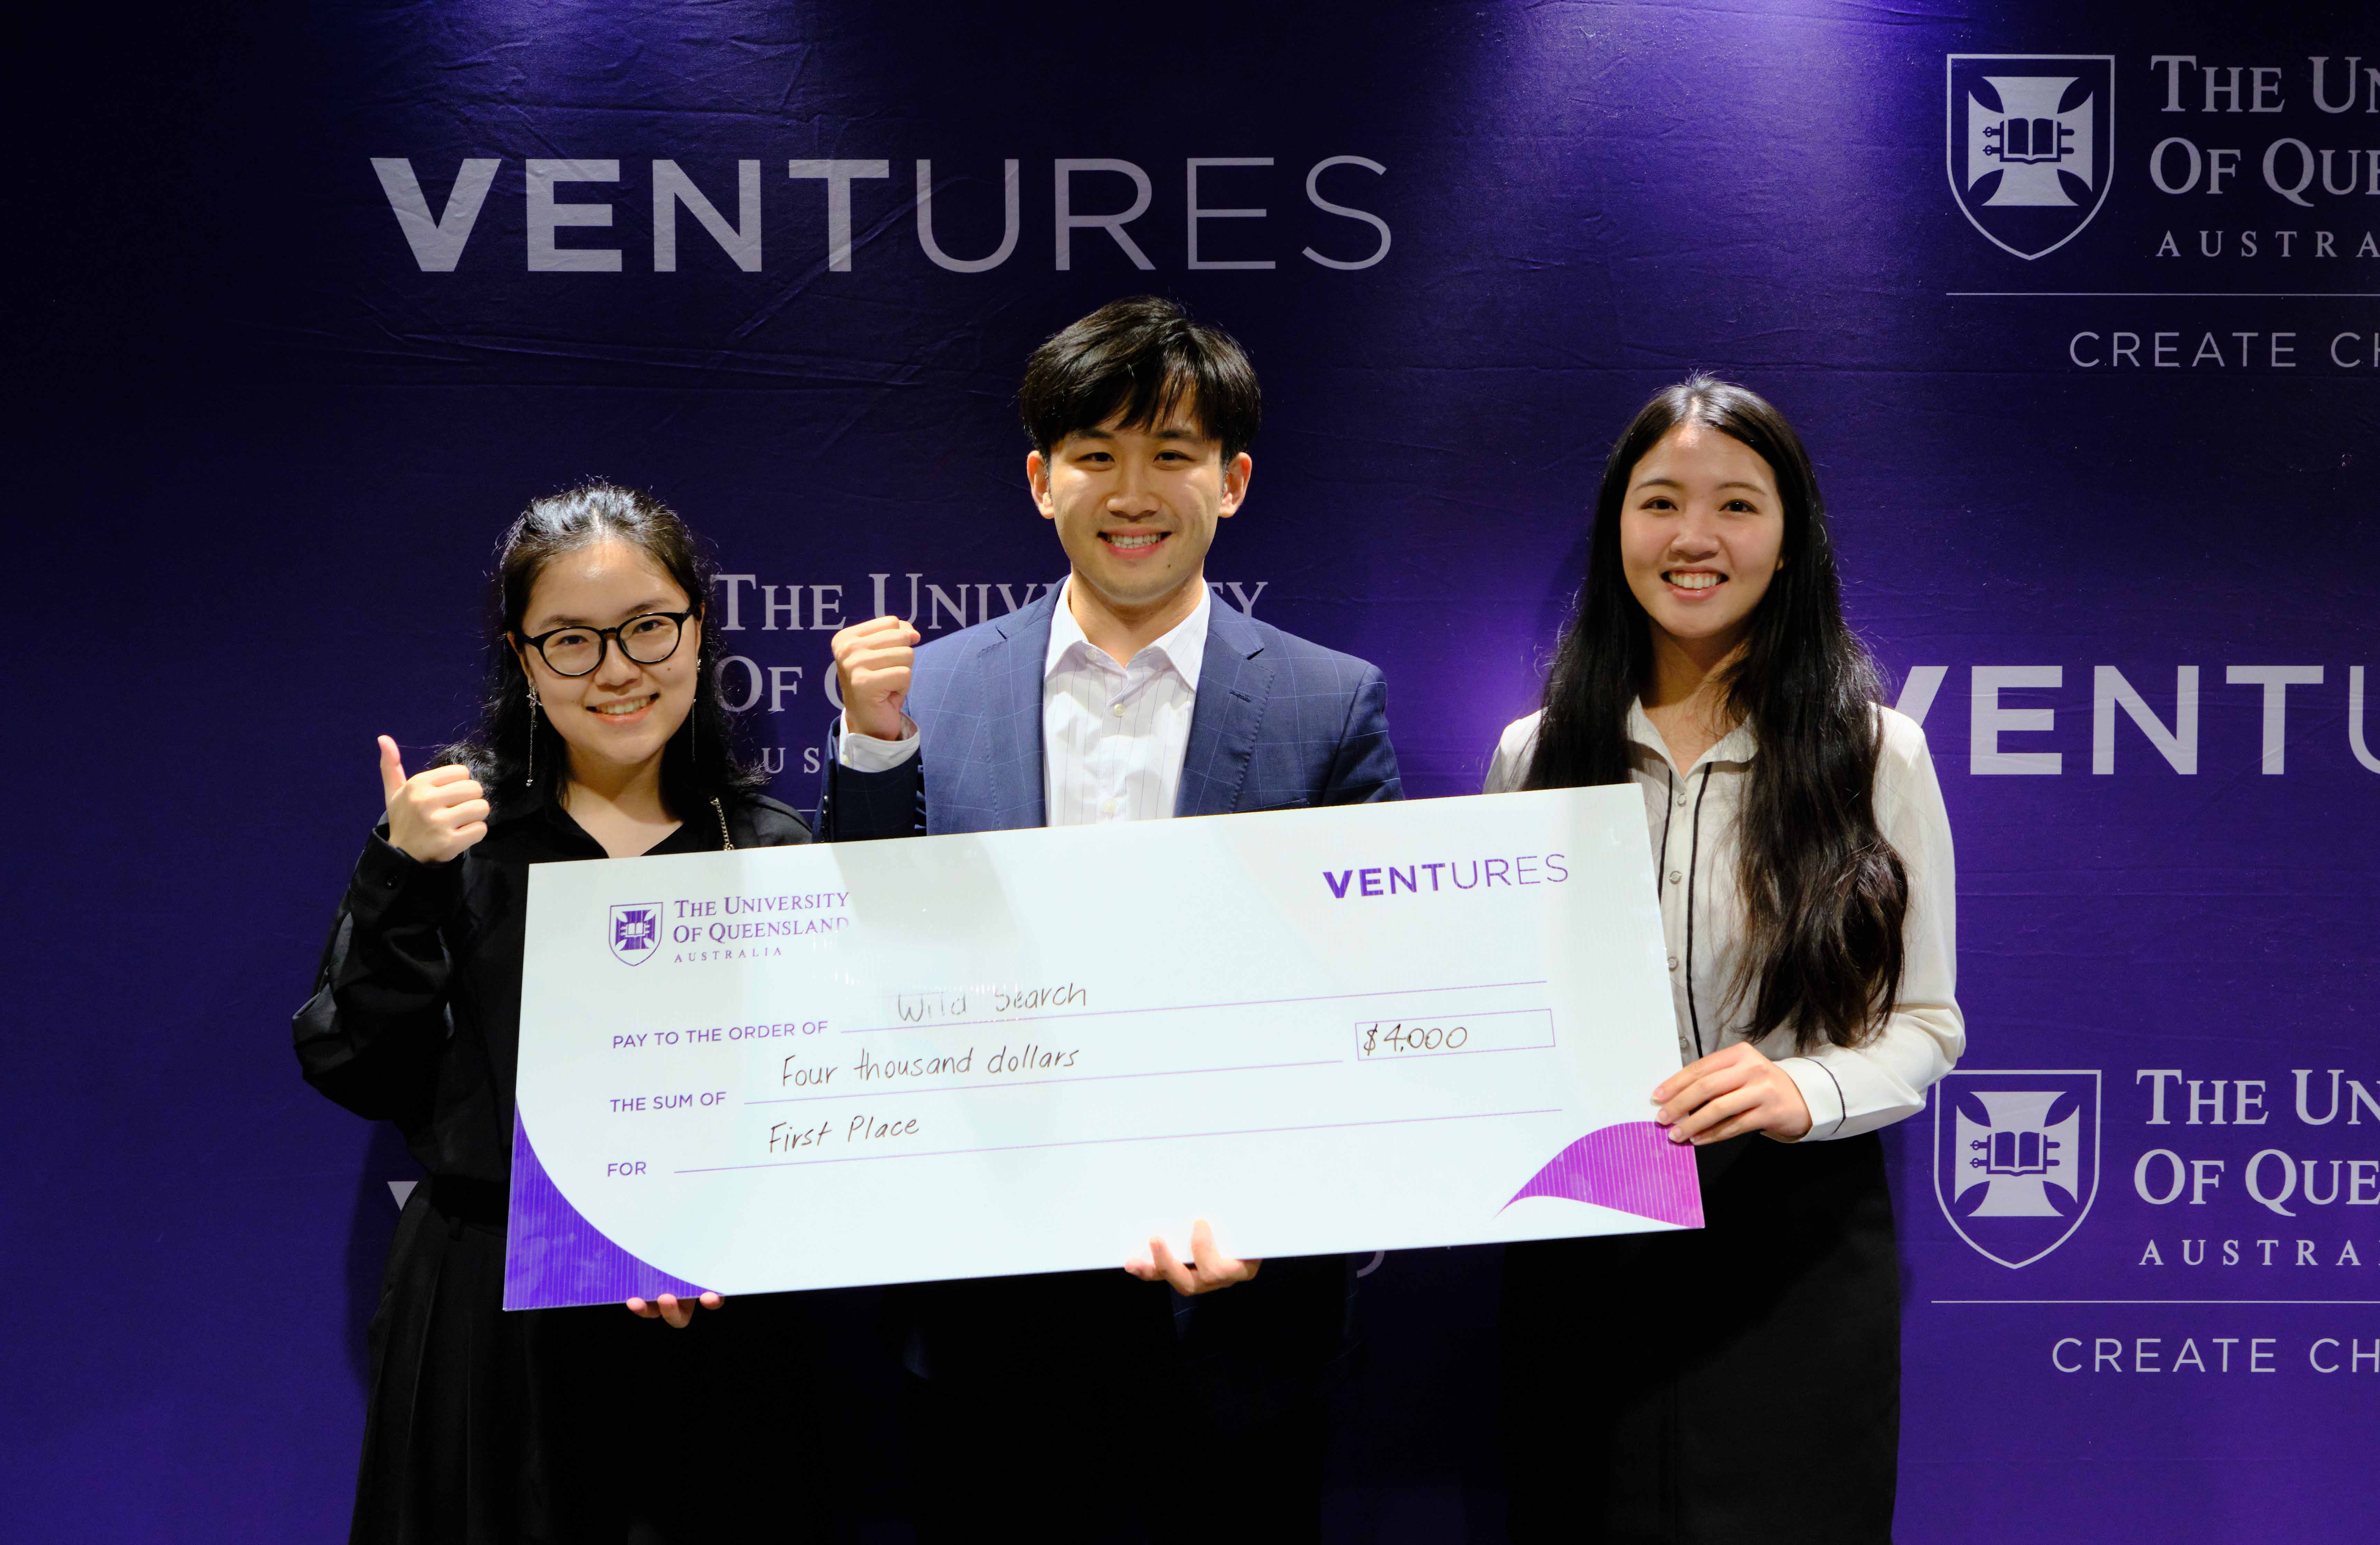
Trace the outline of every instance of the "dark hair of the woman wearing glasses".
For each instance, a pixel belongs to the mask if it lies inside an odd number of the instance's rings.
[[[714,797],[757,793],[769,783],[769,774],[740,755],[740,726],[719,702],[719,631],[709,626],[704,607],[719,564],[676,509],[650,493],[616,483],[581,483],[550,493],[533,500],[505,531],[505,540],[495,548],[495,571],[488,576],[488,698],[481,702],[478,726],[450,745],[445,759],[469,767],[471,776],[488,786],[488,800],[497,809],[557,788],[566,748],[545,714],[536,714],[531,731],[528,676],[512,638],[521,633],[528,593],[545,574],[545,564],[605,540],[628,543],[659,564],[704,621],[695,705],[662,748],[662,800],[678,819],[688,819]],[[531,757],[531,733],[536,733],[536,757]]]

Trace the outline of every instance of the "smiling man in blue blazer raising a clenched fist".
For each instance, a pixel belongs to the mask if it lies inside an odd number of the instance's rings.
[[[1119,300],[1033,355],[1019,407],[1026,481],[1069,576],[923,648],[897,617],[835,636],[845,719],[821,836],[1399,797],[1380,671],[1207,586],[1261,414],[1240,348],[1173,302]],[[1119,917],[1114,943],[1166,950],[1171,931]],[[897,1290],[919,1538],[981,1535],[992,1476],[1038,1540],[1171,1540],[1216,1521],[1316,1538],[1349,1297],[1352,1262],[1230,1259],[1204,1221],[1190,1259],[1150,1240],[1123,1271]]]

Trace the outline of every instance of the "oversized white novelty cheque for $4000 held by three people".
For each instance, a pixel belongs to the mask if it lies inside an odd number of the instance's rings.
[[[531,869],[505,1307],[1702,1221],[1645,802]]]

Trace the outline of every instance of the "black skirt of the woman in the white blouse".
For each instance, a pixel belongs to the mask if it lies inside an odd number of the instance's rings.
[[[1890,1540],[1902,1328],[1883,1143],[1747,1136],[1695,1162],[1704,1228],[1504,1257],[1511,1538]]]

